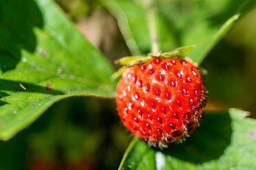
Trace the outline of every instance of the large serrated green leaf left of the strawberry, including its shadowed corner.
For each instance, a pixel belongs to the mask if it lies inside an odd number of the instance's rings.
[[[50,0],[0,1],[0,138],[69,96],[114,97],[113,69]]]

